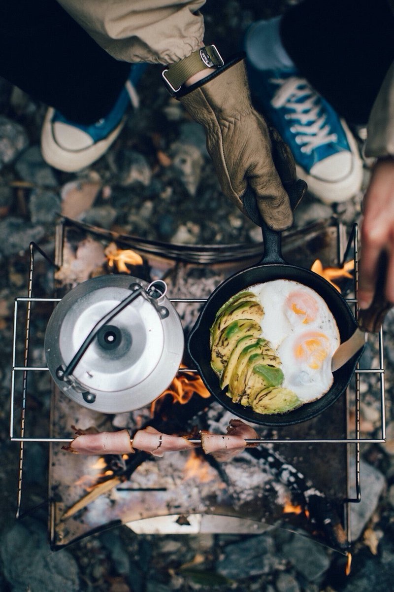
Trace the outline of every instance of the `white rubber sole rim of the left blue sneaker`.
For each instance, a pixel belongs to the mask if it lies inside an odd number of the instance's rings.
[[[108,150],[109,146],[117,139],[126,123],[127,116],[123,117],[120,124],[111,131],[103,140],[92,144],[88,148],[82,150],[67,150],[59,146],[53,136],[52,117],[54,109],[50,107],[44,119],[43,128],[41,130],[41,153],[43,159],[55,169],[63,170],[66,173],[77,172],[85,169],[86,166],[103,156]]]

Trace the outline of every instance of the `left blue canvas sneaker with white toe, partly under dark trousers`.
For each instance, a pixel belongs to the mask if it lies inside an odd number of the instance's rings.
[[[146,64],[131,66],[130,76],[112,110],[89,126],[67,120],[59,111],[49,108],[41,130],[41,152],[44,160],[56,169],[75,172],[98,160],[119,136],[127,120],[127,110],[138,108],[136,86]]]

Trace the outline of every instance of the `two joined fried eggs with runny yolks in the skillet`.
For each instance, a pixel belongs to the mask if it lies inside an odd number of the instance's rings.
[[[314,290],[287,279],[250,287],[263,305],[262,337],[282,361],[283,388],[303,403],[327,392],[334,380],[331,358],[340,345],[337,323]]]

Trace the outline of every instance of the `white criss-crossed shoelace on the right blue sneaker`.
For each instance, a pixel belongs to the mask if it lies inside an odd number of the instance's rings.
[[[330,126],[324,125],[326,115],[319,116],[321,109],[319,96],[304,78],[298,76],[286,79],[272,78],[270,82],[279,85],[271,101],[272,106],[294,110],[293,113],[287,113],[285,118],[298,120],[301,123],[301,125],[295,124],[290,127],[290,131],[298,134],[295,140],[298,144],[302,144],[301,152],[311,154],[315,148],[338,140],[337,134],[330,134]],[[305,99],[297,102],[301,97]]]

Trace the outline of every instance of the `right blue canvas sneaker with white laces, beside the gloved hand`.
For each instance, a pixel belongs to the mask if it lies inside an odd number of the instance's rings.
[[[360,191],[356,140],[331,105],[295,67],[261,70],[247,62],[247,70],[256,108],[288,143],[309,191],[327,204]]]

